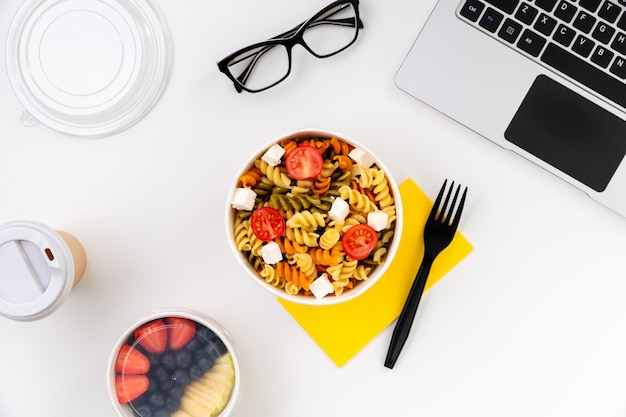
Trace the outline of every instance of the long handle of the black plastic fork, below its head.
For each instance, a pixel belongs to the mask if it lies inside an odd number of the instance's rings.
[[[426,280],[428,279],[432,263],[433,261],[427,258],[422,260],[422,264],[420,265],[417,275],[413,280],[413,284],[411,285],[409,295],[404,302],[404,307],[402,307],[402,311],[400,312],[400,316],[396,322],[396,327],[393,329],[391,343],[389,344],[387,358],[385,359],[385,366],[389,369],[392,369],[396,364],[396,360],[398,359],[398,356],[400,356],[404,343],[409,337],[413,319],[415,318],[417,307],[422,299],[422,294],[424,293],[424,287],[426,286]]]

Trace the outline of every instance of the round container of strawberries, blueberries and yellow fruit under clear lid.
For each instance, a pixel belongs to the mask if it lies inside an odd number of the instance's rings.
[[[239,397],[230,337],[215,320],[191,310],[142,316],[115,344],[107,369],[120,417],[226,417]]]

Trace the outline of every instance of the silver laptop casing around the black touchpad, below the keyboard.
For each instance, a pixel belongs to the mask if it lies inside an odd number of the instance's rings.
[[[459,0],[439,0],[396,74],[398,88],[626,216],[623,161],[606,188],[596,191],[504,137],[529,89],[542,74],[621,119],[626,115],[574,81],[566,80],[459,19],[456,16],[459,4]]]

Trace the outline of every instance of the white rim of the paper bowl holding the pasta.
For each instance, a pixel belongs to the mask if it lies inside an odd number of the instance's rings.
[[[382,265],[376,266],[376,268],[370,274],[370,278],[364,281],[359,282],[354,288],[351,288],[349,291],[345,291],[344,293],[336,296],[334,294],[328,294],[325,297],[320,299],[315,298],[314,296],[307,295],[290,295],[287,294],[283,289],[276,288],[267,282],[265,282],[262,277],[252,268],[248,259],[244,256],[244,254],[239,251],[235,245],[234,234],[233,234],[233,224],[234,224],[234,216],[235,209],[231,207],[231,201],[233,198],[233,194],[235,189],[237,188],[237,184],[239,182],[239,176],[247,170],[255,159],[259,158],[265,151],[275,143],[278,143],[284,139],[291,139],[302,136],[317,136],[317,137],[332,137],[336,136],[343,141],[349,143],[350,145],[358,146],[364,151],[368,152],[375,160],[376,165],[385,171],[387,175],[387,182],[389,183],[389,187],[393,193],[394,204],[396,205],[396,220],[395,220],[395,232],[391,244],[389,246],[389,250],[386,255],[385,263]],[[228,191],[228,199],[226,201],[226,233],[228,236],[228,246],[233,252],[235,259],[241,265],[241,267],[247,272],[247,275],[250,276],[258,285],[268,290],[271,294],[275,296],[290,301],[297,304],[305,304],[305,305],[314,305],[314,306],[322,306],[322,305],[331,305],[338,304],[342,302],[346,302],[352,300],[361,294],[365,293],[368,289],[370,289],[376,282],[380,279],[380,277],[385,273],[389,264],[392,262],[394,256],[398,251],[398,246],[400,244],[400,237],[402,234],[402,224],[403,224],[403,211],[402,211],[402,199],[400,197],[400,190],[398,188],[398,184],[391,175],[389,168],[385,165],[383,161],[381,161],[374,152],[372,152],[367,146],[363,145],[358,140],[353,139],[349,135],[345,135],[343,133],[327,130],[327,129],[317,129],[317,128],[306,128],[306,129],[297,129],[288,133],[284,133],[282,135],[274,137],[274,139],[266,142],[263,146],[257,149],[255,153],[237,170],[237,175],[235,179],[232,181],[229,191]]]

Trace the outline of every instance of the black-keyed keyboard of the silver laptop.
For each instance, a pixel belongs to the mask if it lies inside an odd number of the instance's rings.
[[[463,0],[461,19],[626,108],[626,0]]]

